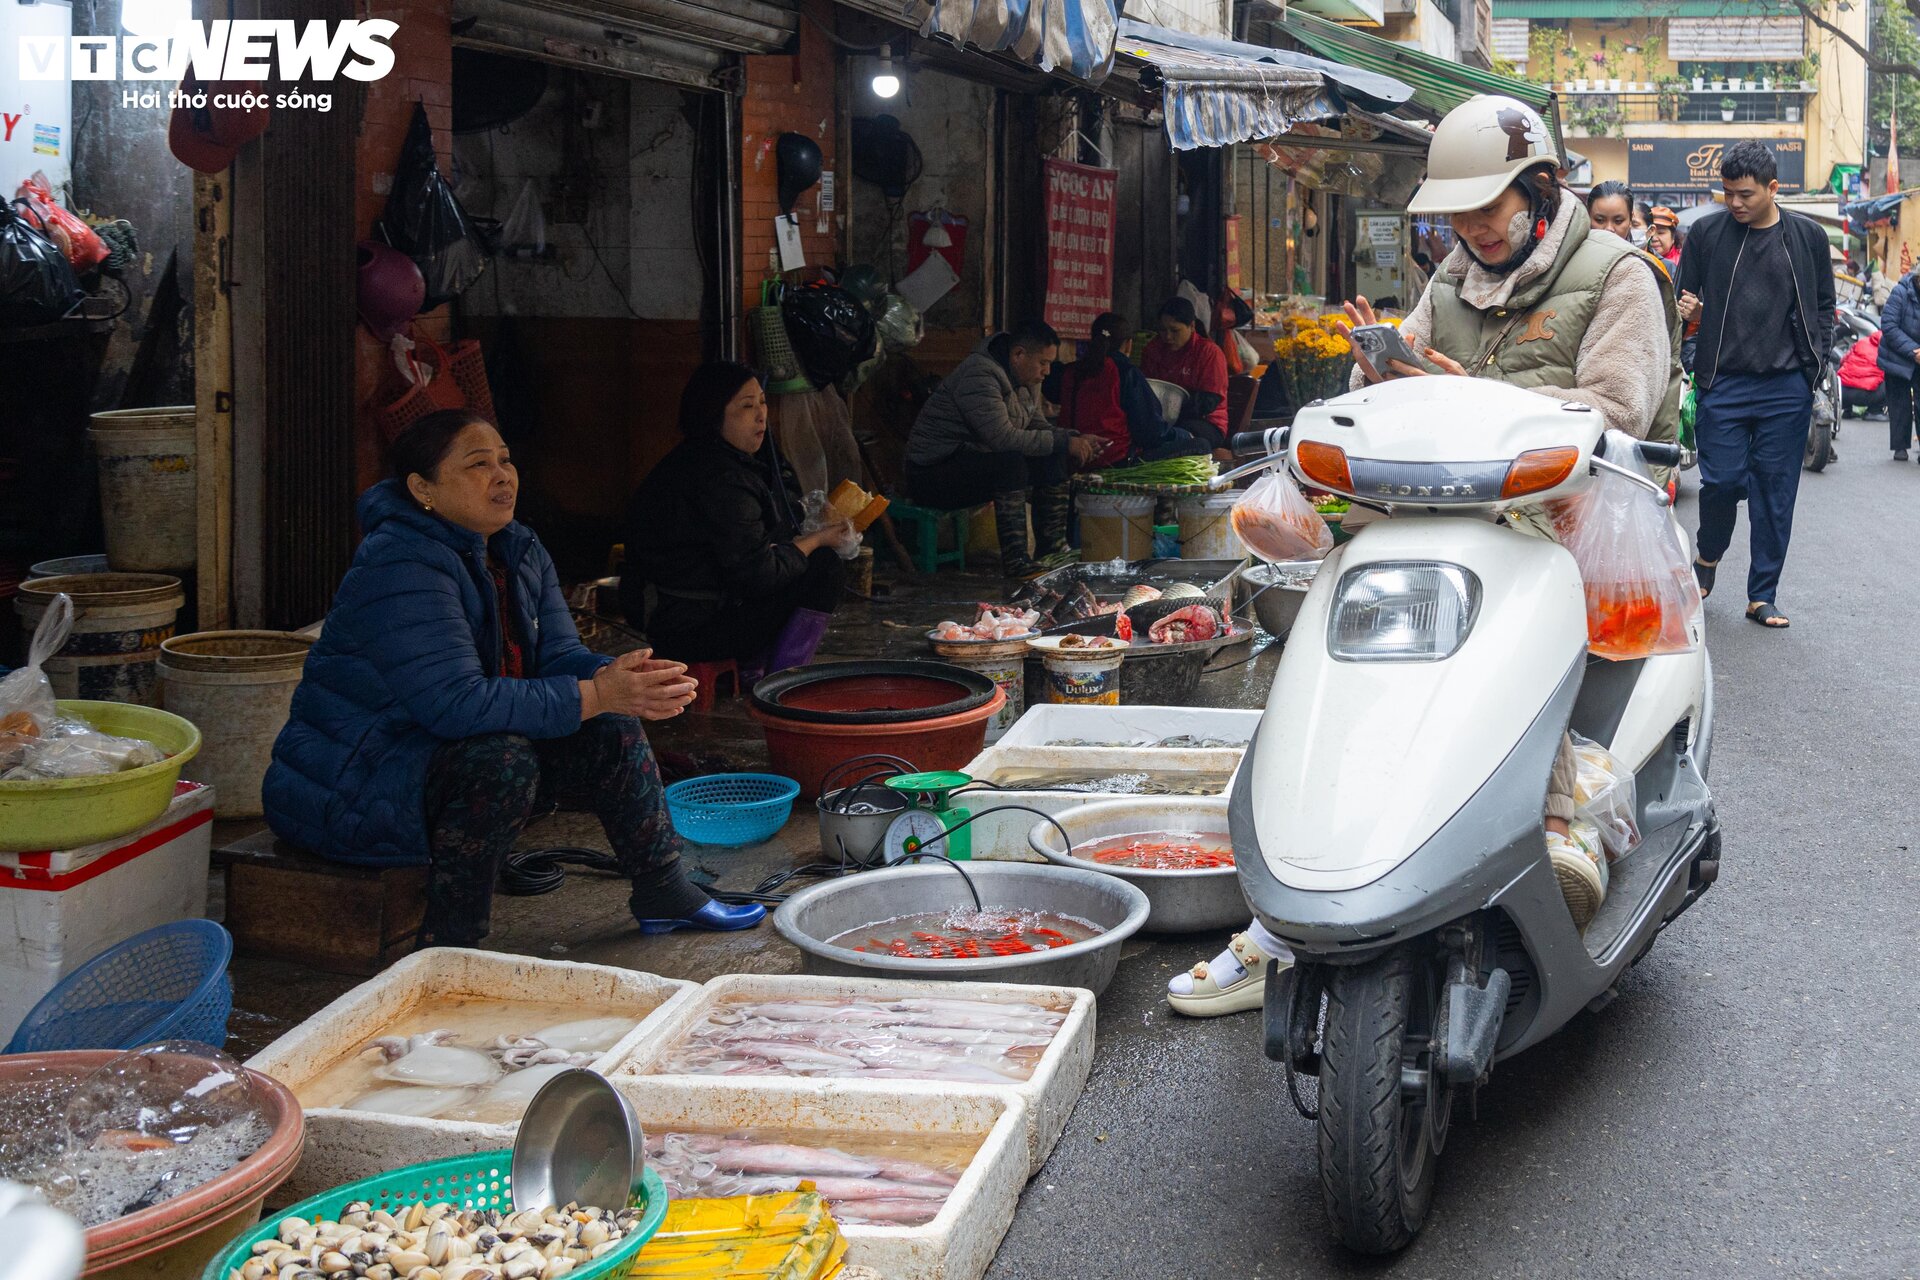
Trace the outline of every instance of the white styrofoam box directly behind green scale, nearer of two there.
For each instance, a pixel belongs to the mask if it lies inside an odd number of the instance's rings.
[[[1081,710],[1081,708],[1056,708],[1056,710]],[[1112,710],[1112,708],[1085,708],[1085,710]],[[1250,712],[1258,720],[1258,712]],[[1016,725],[1018,727],[1018,725]],[[1002,775],[1014,773],[1016,770],[1046,770],[1048,773],[1125,773],[1125,771],[1144,771],[1154,777],[1175,777],[1175,775],[1225,775],[1227,781],[1221,783],[1219,791],[1213,794],[1227,794],[1233,787],[1233,775],[1240,768],[1242,748],[1148,748],[1148,747],[1021,747],[1000,739],[996,745],[989,747],[977,754],[966,770],[968,777],[977,777],[981,781],[1000,781]],[[1018,773],[1016,773],[1018,777]],[[1121,796],[1102,791],[1021,791],[1020,783],[1000,783],[1004,791],[962,791],[954,796],[954,804],[973,814],[973,821],[968,831],[973,833],[973,856],[985,858],[989,862],[1043,862],[1033,846],[1027,842],[1027,835],[1033,831],[1033,823],[1041,821],[1035,814],[1027,810],[1041,810],[1043,814],[1068,814],[1083,804],[1094,804],[1100,800],[1148,800],[1156,796]],[[1173,800],[1190,796],[1169,796]],[[1021,808],[1012,808],[1012,806]],[[993,812],[1000,810],[1000,812]]]

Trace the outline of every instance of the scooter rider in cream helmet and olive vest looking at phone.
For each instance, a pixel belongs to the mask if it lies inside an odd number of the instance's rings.
[[[1640,439],[1661,415],[1678,420],[1680,363],[1661,286],[1632,244],[1594,230],[1559,169],[1546,121],[1515,98],[1471,98],[1440,121],[1407,211],[1448,215],[1457,244],[1400,326],[1428,367],[1390,361],[1379,370],[1356,349],[1354,390],[1478,376],[1592,405],[1609,428]],[[1365,297],[1346,303],[1346,315],[1344,328],[1375,322]],[[1546,520],[1519,524],[1551,535]],[[1574,835],[1574,777],[1572,745],[1563,743],[1548,785],[1546,852],[1584,929],[1607,892],[1607,858],[1584,831]],[[1225,952],[1175,975],[1167,1004],[1190,1017],[1258,1009],[1267,960],[1288,963],[1292,954],[1256,919]]]

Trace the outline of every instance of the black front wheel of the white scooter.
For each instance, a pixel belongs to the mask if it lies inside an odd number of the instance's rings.
[[[1319,1173],[1334,1234],[1359,1253],[1411,1244],[1434,1197],[1453,1094],[1434,1071],[1440,956],[1396,946],[1327,975]]]

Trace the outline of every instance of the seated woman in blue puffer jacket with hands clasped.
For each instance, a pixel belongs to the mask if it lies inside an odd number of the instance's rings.
[[[428,864],[424,936],[468,946],[545,796],[599,816],[643,933],[758,923],[764,908],[687,881],[641,729],[678,716],[693,679],[580,643],[553,560],[513,518],[520,480],[493,424],[428,415],[392,459],[273,747],[275,833],[338,862]]]

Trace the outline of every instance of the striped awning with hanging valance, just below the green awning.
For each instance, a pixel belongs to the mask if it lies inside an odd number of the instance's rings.
[[[1348,107],[1390,111],[1413,88],[1379,71],[1290,50],[1190,36],[1121,19],[1116,56],[1160,98],[1173,150],[1260,142]]]

